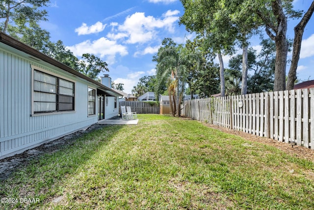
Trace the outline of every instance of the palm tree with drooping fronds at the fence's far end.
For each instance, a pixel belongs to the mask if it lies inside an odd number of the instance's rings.
[[[199,56],[196,53],[187,53],[183,45],[177,46],[171,41],[171,45],[159,48],[154,59],[157,61],[156,78],[158,84],[168,81],[168,89],[175,91],[175,94],[173,91],[169,91],[169,97],[175,95],[173,114],[176,113],[176,116],[180,116],[180,104],[188,77],[188,67],[193,65],[193,61],[199,60]]]

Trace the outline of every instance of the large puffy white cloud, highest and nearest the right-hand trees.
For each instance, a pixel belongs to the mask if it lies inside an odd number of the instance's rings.
[[[114,28],[111,33],[108,33],[108,38],[114,40],[126,38],[126,43],[146,43],[157,37],[157,29],[165,29],[169,32],[174,32],[174,23],[179,19],[178,10],[168,10],[163,14],[163,19],[153,16],[145,16],[143,12],[136,12],[129,15],[122,25]]]

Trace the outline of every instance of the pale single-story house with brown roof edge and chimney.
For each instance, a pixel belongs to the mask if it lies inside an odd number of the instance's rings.
[[[119,114],[118,92],[0,32],[0,159]]]

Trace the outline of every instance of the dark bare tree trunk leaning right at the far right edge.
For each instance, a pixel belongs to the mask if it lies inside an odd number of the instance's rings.
[[[298,62],[300,59],[301,42],[302,42],[304,28],[309,22],[313,12],[314,12],[314,1],[312,2],[308,11],[304,14],[300,23],[294,27],[292,59],[291,59],[289,73],[288,73],[286,90],[292,90],[294,87],[294,82],[296,80],[296,69],[298,67]]]

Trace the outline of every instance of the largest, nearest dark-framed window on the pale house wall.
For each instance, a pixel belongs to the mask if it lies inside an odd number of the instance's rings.
[[[74,110],[74,83],[34,70],[34,113]]]

